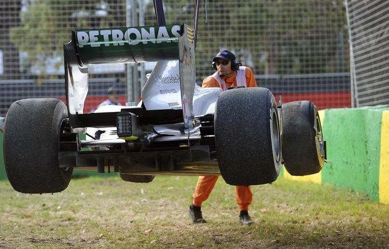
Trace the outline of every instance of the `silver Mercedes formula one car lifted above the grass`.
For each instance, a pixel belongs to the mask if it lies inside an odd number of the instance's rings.
[[[150,182],[158,174],[221,174],[231,185],[271,183],[282,164],[292,175],[320,171],[325,143],[315,105],[277,104],[261,87],[199,87],[194,33],[184,24],[73,30],[64,45],[67,106],[58,99],[23,99],[5,117],[4,162],[12,187],[60,192],[74,168],[113,169],[130,182]],[[88,65],[145,61],[158,62],[137,106],[83,113]]]

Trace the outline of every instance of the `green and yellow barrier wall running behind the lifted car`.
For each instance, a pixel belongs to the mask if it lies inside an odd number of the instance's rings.
[[[326,109],[320,110],[319,115],[327,142],[328,162],[317,174],[291,176],[283,168],[280,177],[328,183],[389,204],[389,105]],[[2,138],[0,132],[0,180],[5,180]],[[102,174],[76,170],[73,175]]]

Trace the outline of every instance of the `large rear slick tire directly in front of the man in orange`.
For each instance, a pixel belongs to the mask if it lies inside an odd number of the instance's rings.
[[[277,179],[282,161],[281,126],[269,89],[222,92],[214,123],[217,161],[226,183],[248,186]]]

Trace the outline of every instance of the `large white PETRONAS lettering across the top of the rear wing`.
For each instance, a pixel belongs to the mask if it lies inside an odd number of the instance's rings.
[[[124,29],[102,29],[77,31],[77,44],[80,48],[83,46],[123,46],[124,44],[137,45],[139,43],[162,43],[177,42],[180,35],[181,26],[157,26],[142,28]],[[171,35],[170,35],[171,34]]]

